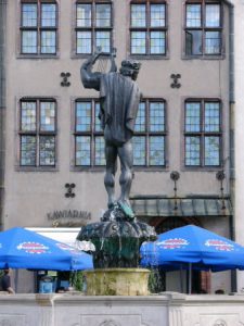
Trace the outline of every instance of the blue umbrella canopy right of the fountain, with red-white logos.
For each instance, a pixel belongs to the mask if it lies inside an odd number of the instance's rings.
[[[244,269],[244,247],[204,228],[188,225],[160,234],[140,249],[142,266],[166,271],[192,264],[195,269]]]

